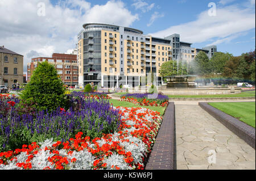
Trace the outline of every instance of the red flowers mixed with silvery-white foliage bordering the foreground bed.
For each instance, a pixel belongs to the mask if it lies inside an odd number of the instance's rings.
[[[0,153],[0,169],[143,169],[162,117],[146,108],[113,108],[118,131],[91,140],[82,132],[64,142],[32,142]]]

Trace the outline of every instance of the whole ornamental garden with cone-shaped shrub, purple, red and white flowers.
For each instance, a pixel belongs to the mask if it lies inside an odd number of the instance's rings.
[[[160,94],[69,92],[43,62],[18,95],[0,94],[0,169],[144,169],[167,106]]]

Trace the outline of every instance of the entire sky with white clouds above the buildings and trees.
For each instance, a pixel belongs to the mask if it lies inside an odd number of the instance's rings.
[[[0,46],[31,58],[71,53],[84,23],[108,23],[146,35],[239,56],[255,49],[255,0],[1,0]]]

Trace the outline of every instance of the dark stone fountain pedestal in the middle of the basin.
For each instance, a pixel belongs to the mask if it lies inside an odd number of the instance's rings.
[[[179,88],[188,89],[196,88],[195,80],[196,76],[193,75],[174,75],[166,77],[167,79],[167,89],[168,88]]]

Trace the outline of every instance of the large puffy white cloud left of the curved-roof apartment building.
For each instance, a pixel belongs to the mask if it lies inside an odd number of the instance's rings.
[[[45,16],[38,15],[43,2]],[[138,20],[121,1],[91,6],[84,0],[65,0],[52,5],[49,0],[1,0],[0,44],[24,55],[24,71],[33,56],[51,56],[75,48],[82,24],[114,23],[131,26]]]

